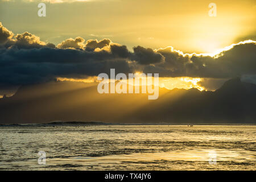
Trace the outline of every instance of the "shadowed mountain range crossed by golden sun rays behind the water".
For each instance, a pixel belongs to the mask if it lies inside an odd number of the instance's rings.
[[[48,82],[21,86],[0,100],[0,123],[256,123],[256,85],[228,80],[214,92],[159,88],[148,94],[99,94],[97,84]]]

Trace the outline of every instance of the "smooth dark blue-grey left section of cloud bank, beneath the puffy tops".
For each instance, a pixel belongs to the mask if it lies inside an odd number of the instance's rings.
[[[117,72],[132,72],[125,59],[111,52],[89,52],[77,49],[1,49],[0,83],[6,86],[34,84],[56,77],[95,76]]]

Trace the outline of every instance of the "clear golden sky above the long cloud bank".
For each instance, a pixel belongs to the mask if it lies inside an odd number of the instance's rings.
[[[67,38],[109,38],[128,48],[172,46],[183,52],[211,53],[255,38],[255,1],[170,0],[46,0],[46,17],[39,17],[36,0],[1,1],[1,22],[14,33],[24,31],[44,42]]]

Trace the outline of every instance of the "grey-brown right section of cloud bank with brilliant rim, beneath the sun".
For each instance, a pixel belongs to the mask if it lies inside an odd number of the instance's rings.
[[[165,57],[165,61],[151,67],[150,71],[164,69],[162,76],[229,78],[256,74],[256,43],[253,41],[236,44],[214,57],[188,55],[172,48],[159,49],[158,52]]]

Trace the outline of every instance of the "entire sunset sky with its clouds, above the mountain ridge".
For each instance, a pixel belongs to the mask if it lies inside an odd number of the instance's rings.
[[[38,4],[46,4],[46,17]],[[232,77],[256,83],[256,2],[0,1],[0,95],[110,68],[159,73],[168,89],[215,90]]]

